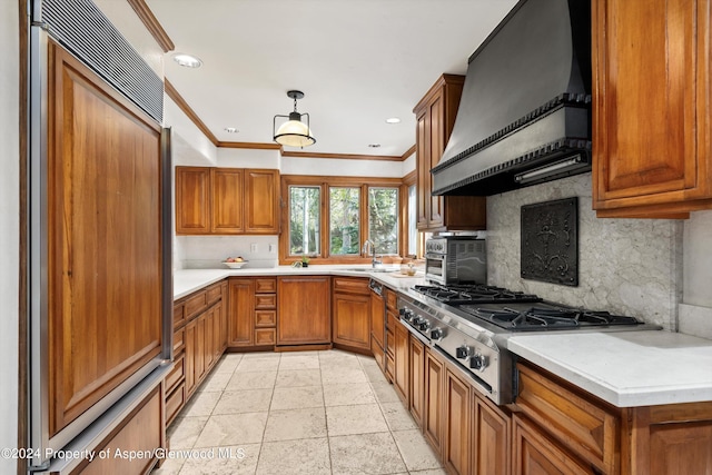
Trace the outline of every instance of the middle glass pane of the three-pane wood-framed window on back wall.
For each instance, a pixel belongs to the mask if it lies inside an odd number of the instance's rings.
[[[329,254],[360,253],[360,188],[329,188]]]

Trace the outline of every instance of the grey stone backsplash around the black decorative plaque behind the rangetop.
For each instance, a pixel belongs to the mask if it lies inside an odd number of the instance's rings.
[[[522,279],[522,205],[573,196],[578,197],[578,286]],[[683,222],[596,218],[591,202],[591,174],[488,197],[488,284],[567,305],[631,315],[678,330]]]

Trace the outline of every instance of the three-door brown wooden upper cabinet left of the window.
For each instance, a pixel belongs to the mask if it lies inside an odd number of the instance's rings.
[[[276,235],[279,171],[176,167],[178,235]]]

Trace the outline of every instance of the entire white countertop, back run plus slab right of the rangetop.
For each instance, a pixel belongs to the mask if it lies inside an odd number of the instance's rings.
[[[343,275],[373,277],[393,289],[424,284],[419,274],[348,270],[315,265],[174,273],[174,298],[231,276]],[[712,340],[670,331],[515,334],[507,349],[619,407],[712,400]]]

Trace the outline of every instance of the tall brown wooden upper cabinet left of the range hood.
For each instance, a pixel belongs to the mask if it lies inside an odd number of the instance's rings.
[[[418,230],[442,231],[485,229],[484,197],[431,196],[431,169],[439,164],[447,139],[453,131],[464,76],[443,75],[415,106],[417,227]]]

